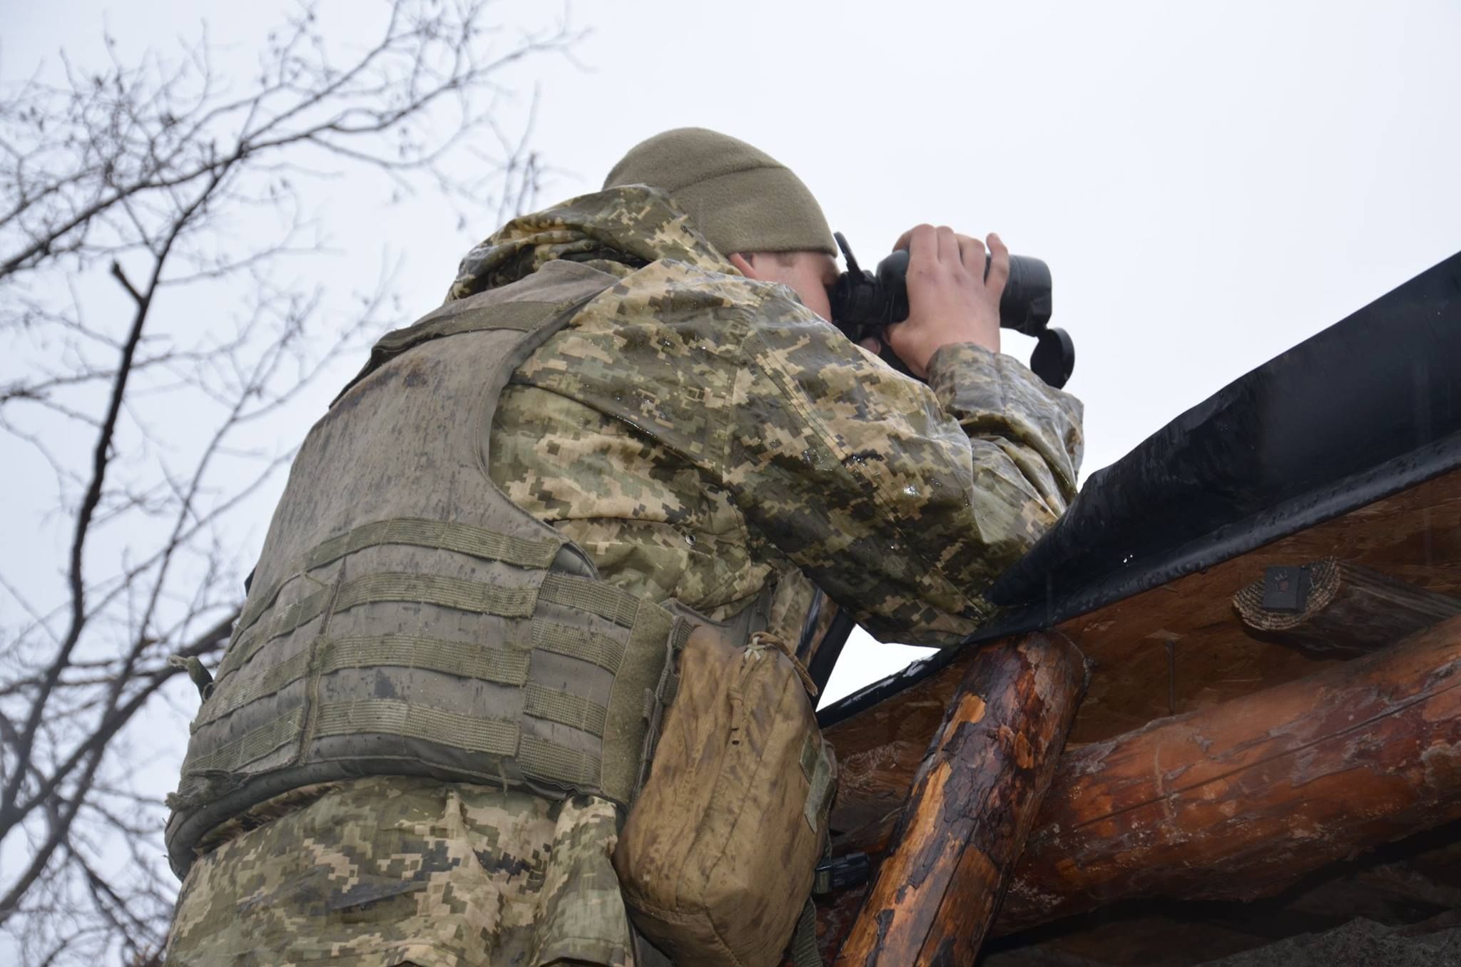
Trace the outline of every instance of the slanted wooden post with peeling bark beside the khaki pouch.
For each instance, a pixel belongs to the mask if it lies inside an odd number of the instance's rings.
[[[837,964],[973,964],[1086,687],[1069,638],[974,654]]]

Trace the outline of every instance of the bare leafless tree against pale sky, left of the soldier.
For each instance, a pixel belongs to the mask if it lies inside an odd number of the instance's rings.
[[[191,713],[238,614],[232,521],[276,485],[275,438],[313,413],[281,416],[326,364],[409,321],[380,264],[346,299],[297,280],[329,238],[310,199],[368,172],[504,213],[538,187],[513,89],[520,61],[571,50],[565,13],[370,10],[355,48],[286,13],[247,73],[206,32],[131,63],[107,38],[99,66],[0,89],[0,453],[54,476],[19,488],[50,516],[0,562],[0,944],[26,964],[159,961],[159,783],[186,741],[167,706]]]

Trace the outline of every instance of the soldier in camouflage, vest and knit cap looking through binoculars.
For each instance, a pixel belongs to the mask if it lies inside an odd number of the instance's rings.
[[[169,800],[167,963],[636,963],[609,856],[687,616],[977,628],[1081,406],[998,353],[995,235],[988,282],[899,245],[923,381],[827,324],[821,209],[713,131],[468,253],[291,470]]]

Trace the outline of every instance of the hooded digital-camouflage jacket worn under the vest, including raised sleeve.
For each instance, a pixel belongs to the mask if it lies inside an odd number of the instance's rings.
[[[881,640],[947,646],[1075,492],[1075,397],[972,345],[903,377],[653,188],[514,219],[449,298],[552,259],[621,280],[519,368],[491,475],[627,590],[719,618],[774,581],[795,641],[811,578]]]

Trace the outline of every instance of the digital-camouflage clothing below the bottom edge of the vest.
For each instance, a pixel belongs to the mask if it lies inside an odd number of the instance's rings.
[[[188,871],[169,967],[634,967],[608,800],[406,777],[281,800]]]

